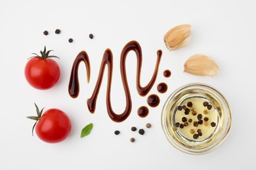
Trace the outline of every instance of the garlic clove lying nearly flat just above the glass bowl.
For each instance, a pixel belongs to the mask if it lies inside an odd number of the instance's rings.
[[[198,76],[213,76],[219,73],[219,67],[213,59],[203,54],[195,54],[184,63],[184,72]]]

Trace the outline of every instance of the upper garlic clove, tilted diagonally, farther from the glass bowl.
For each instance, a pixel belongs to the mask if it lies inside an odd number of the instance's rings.
[[[171,50],[177,50],[186,46],[190,40],[191,25],[182,24],[170,29],[164,37],[165,46]]]

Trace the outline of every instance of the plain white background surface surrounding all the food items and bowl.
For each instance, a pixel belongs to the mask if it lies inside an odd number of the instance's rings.
[[[256,1],[1,1],[0,2],[0,169],[255,169],[255,38]],[[163,36],[179,24],[192,25],[188,46],[169,52]],[[60,35],[54,33],[61,29]],[[48,30],[49,35],[43,35]],[[95,39],[89,39],[89,33]],[[68,39],[74,42],[69,43]],[[114,54],[112,103],[116,112],[125,108],[125,94],[119,73],[119,56],[131,40],[143,53],[142,85],[148,83],[156,63],[156,51],[163,50],[156,86],[166,82],[161,103],[150,108],[146,118],[137,109],[146,105],[135,86],[135,54],[127,58],[127,77],[133,110],[125,122],[110,120],[106,112],[106,72],[95,114],[86,99],[93,92],[102,54]],[[43,46],[53,49],[60,65],[60,81],[51,90],[35,90],[24,77],[31,53]],[[79,69],[81,90],[77,99],[68,95],[72,63],[81,50],[91,60],[91,81],[85,66]],[[193,54],[207,54],[219,64],[219,75],[193,76],[183,73],[183,64]],[[164,78],[165,69],[172,71]],[[232,128],[224,143],[202,156],[184,154],[165,139],[161,129],[161,108],[167,96],[184,84],[203,82],[223,93],[232,109]],[[64,110],[72,121],[70,136],[62,143],[44,143],[31,130],[33,102],[45,110]],[[79,138],[81,129],[92,122],[91,134]],[[150,122],[151,129],[144,128]],[[144,128],[144,136],[130,130]],[[114,131],[121,133],[116,136]],[[135,137],[136,142],[129,139]]]

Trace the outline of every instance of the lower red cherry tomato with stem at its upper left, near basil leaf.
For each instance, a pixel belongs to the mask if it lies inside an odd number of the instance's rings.
[[[43,109],[39,111],[39,108],[35,104],[37,110],[37,116],[28,116],[32,120],[36,120],[33,128],[37,136],[47,143],[59,143],[64,141],[70,134],[72,124],[68,115],[59,109],[49,109],[43,113]]]

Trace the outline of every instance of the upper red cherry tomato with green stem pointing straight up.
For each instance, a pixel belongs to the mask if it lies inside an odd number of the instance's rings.
[[[28,83],[36,89],[47,90],[52,88],[60,78],[60,68],[58,63],[51,58],[58,58],[56,56],[49,56],[52,50],[46,52],[46,48],[41,51],[41,56],[35,54],[26,63],[25,76]],[[33,53],[34,54],[34,53]]]

